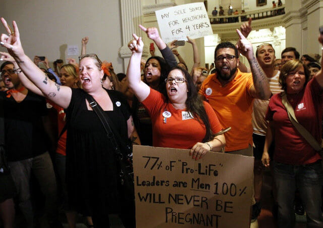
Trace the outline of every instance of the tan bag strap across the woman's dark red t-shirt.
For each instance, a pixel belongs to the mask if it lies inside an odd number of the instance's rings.
[[[303,127],[296,119],[294,109],[292,105],[288,102],[286,93],[282,94],[282,103],[285,106],[288,114],[288,118],[296,128],[296,130],[303,136],[303,138],[307,141],[309,145],[311,145],[312,148],[314,148],[315,151],[320,151],[322,148],[319,145],[319,143],[314,139],[313,135],[306,130],[305,127]]]

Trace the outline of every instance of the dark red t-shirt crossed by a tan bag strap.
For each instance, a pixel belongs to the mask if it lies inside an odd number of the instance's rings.
[[[314,136],[317,142],[321,142],[322,98],[322,89],[315,77],[307,83],[302,92],[287,95],[289,103],[294,108],[297,121]],[[282,103],[281,93],[271,98],[266,120],[272,121],[274,128],[275,161],[303,165],[321,159],[289,120],[287,110]]]

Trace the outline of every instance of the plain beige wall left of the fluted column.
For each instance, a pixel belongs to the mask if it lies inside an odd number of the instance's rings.
[[[77,45],[81,54],[81,39],[88,36],[87,53],[96,53],[102,61],[112,62],[116,72],[123,71],[118,56],[122,46],[118,0],[2,1],[0,15],[10,22],[16,20],[24,51],[31,59],[35,55],[47,56],[49,62],[77,59],[77,55],[67,56],[67,45]],[[0,31],[5,32],[2,26]]]

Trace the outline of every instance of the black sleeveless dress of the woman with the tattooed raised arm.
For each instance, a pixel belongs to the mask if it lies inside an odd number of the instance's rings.
[[[125,142],[130,113],[122,94],[107,90],[113,111],[105,111]],[[67,113],[66,181],[69,204],[79,213],[118,213],[117,166],[111,143],[94,111],[88,110],[85,92],[72,88]]]

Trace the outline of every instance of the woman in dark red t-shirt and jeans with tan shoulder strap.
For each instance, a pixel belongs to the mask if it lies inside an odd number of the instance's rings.
[[[323,43],[323,37],[320,39]],[[307,66],[299,60],[286,62],[279,81],[284,92],[274,95],[268,105],[269,121],[262,163],[268,167],[268,148],[275,139],[274,175],[277,187],[278,227],[294,227],[293,201],[295,189],[305,207],[307,227],[323,227],[321,190],[323,170],[319,151],[309,144],[288,116],[283,101],[294,110],[297,121],[321,142],[323,105],[323,72],[320,70],[309,80]],[[286,96],[286,97],[285,97]]]

